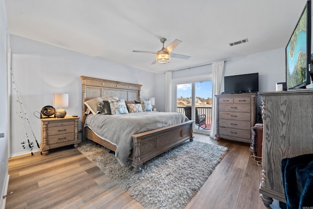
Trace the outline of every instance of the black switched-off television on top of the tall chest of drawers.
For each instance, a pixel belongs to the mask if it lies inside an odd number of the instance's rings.
[[[252,93],[259,91],[259,73],[224,77],[224,93]]]

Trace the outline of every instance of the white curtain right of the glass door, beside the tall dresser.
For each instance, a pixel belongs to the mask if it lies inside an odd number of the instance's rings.
[[[212,63],[212,118],[211,118],[211,133],[210,137],[215,138],[216,134],[216,99],[215,95],[221,93],[223,74],[224,74],[224,61]]]

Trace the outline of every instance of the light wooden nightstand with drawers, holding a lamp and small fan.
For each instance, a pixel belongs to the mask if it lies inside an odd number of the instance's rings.
[[[74,144],[77,148],[79,117],[67,116],[64,118],[41,119],[41,143],[43,155],[49,153],[49,149]]]

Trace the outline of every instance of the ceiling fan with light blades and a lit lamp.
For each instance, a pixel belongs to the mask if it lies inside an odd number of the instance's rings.
[[[190,58],[190,56],[171,53],[171,51],[174,48],[176,48],[177,46],[179,46],[179,44],[182,43],[182,41],[179,41],[178,39],[175,39],[166,48],[164,48],[164,43],[166,42],[166,38],[162,38],[160,41],[163,44],[163,47],[161,48],[161,50],[159,50],[157,52],[153,52],[153,51],[137,51],[137,50],[133,50],[133,52],[156,54],[156,59],[151,63],[151,65],[154,65],[157,62],[158,63],[162,63],[162,64],[168,63],[171,60],[171,57],[179,58],[179,59],[185,59],[185,60],[188,60]]]

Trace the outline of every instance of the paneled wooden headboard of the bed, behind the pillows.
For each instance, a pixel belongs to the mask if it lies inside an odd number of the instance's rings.
[[[140,84],[92,78],[83,75],[80,77],[83,86],[83,124],[85,123],[85,112],[87,110],[84,102],[89,99],[103,96],[117,96],[118,98],[125,100],[139,100],[140,98],[140,88],[142,86]]]

